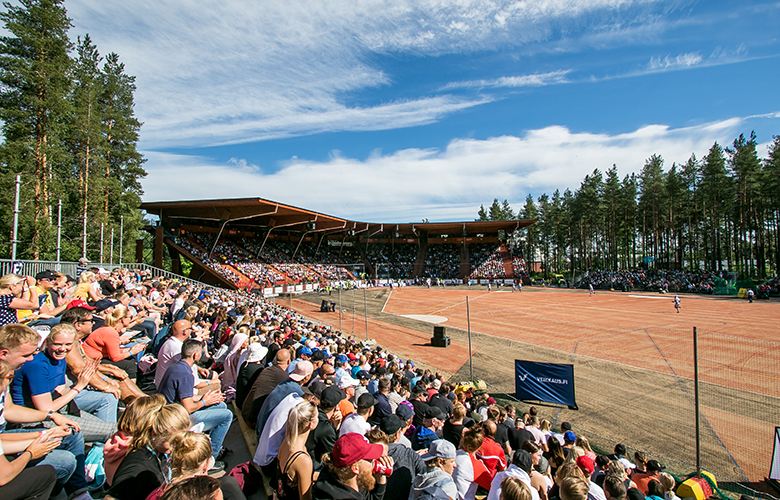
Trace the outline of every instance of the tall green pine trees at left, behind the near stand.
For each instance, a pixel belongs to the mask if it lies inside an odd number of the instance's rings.
[[[0,38],[0,255],[10,256],[14,180],[21,176],[17,258],[56,257],[62,200],[63,260],[100,258],[114,230],[118,259],[132,254],[141,228],[138,206],[145,162],[137,151],[135,78],[119,56],[102,57],[89,35],[74,44],[62,0],[20,0],[0,13],[9,35]],[[104,239],[100,239],[101,224]]]

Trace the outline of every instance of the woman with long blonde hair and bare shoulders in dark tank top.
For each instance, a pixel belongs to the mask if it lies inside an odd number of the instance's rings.
[[[279,482],[274,498],[311,500],[314,469],[311,456],[306,451],[306,440],[309,433],[317,428],[318,421],[317,407],[310,401],[301,401],[290,410],[284,442],[279,447]]]

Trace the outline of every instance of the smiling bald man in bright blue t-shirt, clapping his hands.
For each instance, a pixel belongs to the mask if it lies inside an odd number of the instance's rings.
[[[43,343],[43,350],[16,370],[11,395],[14,404],[45,412],[74,406],[73,411],[80,414],[71,419],[78,422],[84,439],[105,443],[116,432],[118,401],[111,394],[86,390],[97,372],[97,361],[87,364],[74,386],[66,384],[65,356],[73,349],[75,341],[76,329],[73,326],[65,323],[52,328]]]

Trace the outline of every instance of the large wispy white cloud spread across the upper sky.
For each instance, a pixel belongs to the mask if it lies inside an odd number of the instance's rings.
[[[90,33],[102,53],[117,52],[137,76],[142,140],[161,148],[430,123],[485,101],[406,90],[390,102],[350,103],[354,92],[394,85],[375,62],[377,53],[516,47],[570,26],[598,30],[631,6],[655,3],[661,2],[69,0],[67,8],[74,37]]]

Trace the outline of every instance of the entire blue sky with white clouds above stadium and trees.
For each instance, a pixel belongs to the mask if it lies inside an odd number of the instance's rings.
[[[67,0],[137,77],[147,201],[470,220],[780,134],[780,3]]]

